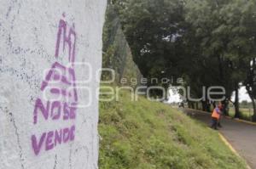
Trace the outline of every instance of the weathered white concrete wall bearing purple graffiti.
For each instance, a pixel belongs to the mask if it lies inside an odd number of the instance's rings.
[[[97,168],[105,8],[106,0],[1,0],[1,169]]]

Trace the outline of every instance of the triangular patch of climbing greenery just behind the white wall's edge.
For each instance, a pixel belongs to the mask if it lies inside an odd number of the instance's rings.
[[[106,11],[106,22],[103,28],[103,52],[102,67],[114,70],[116,83],[119,83],[122,78],[130,80],[141,76],[140,70],[133,62],[131,49],[121,29],[119,16],[110,3]],[[108,71],[103,71],[102,80],[111,78],[113,77]],[[131,84],[127,82],[126,85]]]

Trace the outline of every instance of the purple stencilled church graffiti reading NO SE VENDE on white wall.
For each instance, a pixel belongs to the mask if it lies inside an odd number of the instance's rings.
[[[63,17],[65,15],[63,14]],[[55,62],[41,84],[41,91],[49,91],[47,99],[38,98],[33,111],[33,124],[38,125],[44,121],[75,120],[78,94],[74,70],[76,33],[74,24],[69,27],[65,20],[60,20],[55,46],[55,58],[68,57],[69,66]],[[67,52],[66,52],[67,51]],[[63,52],[63,55],[61,55]],[[66,56],[66,53],[68,56]],[[60,73],[61,72],[61,73]],[[59,99],[55,100],[58,96]],[[38,155],[42,149],[48,151],[54,149],[57,144],[73,141],[75,138],[75,126],[44,132],[41,135],[33,134],[32,149]]]

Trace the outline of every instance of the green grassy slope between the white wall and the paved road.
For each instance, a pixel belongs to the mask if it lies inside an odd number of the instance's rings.
[[[100,105],[101,169],[246,168],[218,132],[165,104],[124,92]]]

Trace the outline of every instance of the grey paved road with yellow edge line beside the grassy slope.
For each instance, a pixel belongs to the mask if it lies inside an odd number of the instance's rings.
[[[188,109],[184,109],[184,112],[210,126],[210,113]],[[223,118],[221,125],[223,127],[219,129],[219,132],[221,132],[236,151],[246,159],[248,165],[256,169],[256,125],[231,120],[229,118]]]

